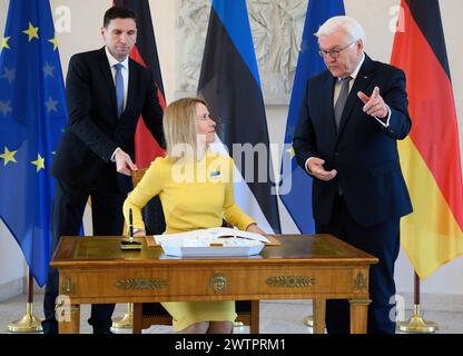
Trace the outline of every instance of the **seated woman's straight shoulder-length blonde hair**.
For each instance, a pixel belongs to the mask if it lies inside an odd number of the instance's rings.
[[[197,97],[173,101],[164,112],[164,131],[166,136],[167,157],[178,160],[198,151],[198,128],[196,123],[196,105],[204,99]]]

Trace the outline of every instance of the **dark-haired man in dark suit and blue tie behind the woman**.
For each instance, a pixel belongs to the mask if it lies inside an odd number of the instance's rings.
[[[128,56],[137,38],[135,13],[105,13],[102,49],[75,55],[66,80],[69,125],[51,168],[57,178],[52,248],[61,236],[79,235],[91,197],[93,235],[121,235],[122,204],[132,189],[135,130],[140,115],[161,146],[162,109],[152,73]],[[43,300],[43,333],[58,332],[55,303],[58,271],[50,268]],[[93,305],[93,333],[110,333],[115,305]]]

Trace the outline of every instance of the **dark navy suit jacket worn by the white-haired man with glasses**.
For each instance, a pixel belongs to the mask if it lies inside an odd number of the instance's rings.
[[[324,159],[326,170],[337,170],[331,181],[313,180],[315,220],[329,222],[338,185],[351,215],[361,226],[410,214],[412,204],[396,146],[396,140],[404,139],[412,127],[404,72],[366,56],[347,98],[338,131],[333,109],[335,80],[326,70],[307,81],[293,140],[297,162],[304,170],[309,157]],[[387,128],[363,112],[364,105],[357,97],[358,91],[370,96],[375,86],[391,108]]]

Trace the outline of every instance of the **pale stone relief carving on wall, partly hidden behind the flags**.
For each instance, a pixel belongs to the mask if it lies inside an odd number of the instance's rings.
[[[266,103],[288,103],[308,0],[247,0],[250,30]],[[210,0],[177,0],[176,91],[195,93]]]

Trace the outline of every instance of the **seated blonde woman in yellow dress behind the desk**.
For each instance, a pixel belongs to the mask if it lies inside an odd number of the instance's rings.
[[[164,115],[167,156],[156,158],[124,204],[128,221],[132,209],[135,236],[145,235],[141,208],[159,195],[166,234],[219,227],[225,218],[242,230],[264,234],[235,204],[232,158],[213,154],[216,123],[206,102],[185,98],[170,103]],[[177,333],[232,333],[235,301],[162,303]]]

